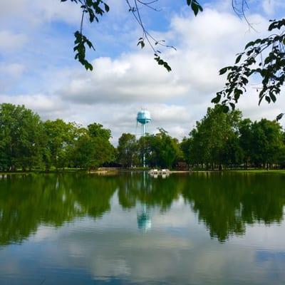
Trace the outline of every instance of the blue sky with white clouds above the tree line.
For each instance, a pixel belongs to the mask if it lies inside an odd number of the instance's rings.
[[[73,33],[81,11],[71,1],[0,1],[0,103],[24,104],[43,120],[62,118],[87,126],[101,123],[117,144],[122,133],[140,133],[136,114],[150,110],[149,133],[164,128],[179,140],[212,107],[224,85],[219,69],[234,63],[245,43],[267,34],[269,19],[284,12],[282,0],[249,0],[247,19],[234,14],[231,0],[201,1],[195,17],[186,0],[158,0],[159,12],[142,8],[148,31],[177,50],[162,48],[172,67],[167,73],[149,47],[137,46],[142,31],[125,0],[106,0],[110,12],[100,22],[85,21],[83,32],[95,51],[88,51],[93,71],[74,60]],[[237,108],[245,118],[276,118],[284,96],[261,103],[252,82]],[[281,122],[282,123],[282,122]]]

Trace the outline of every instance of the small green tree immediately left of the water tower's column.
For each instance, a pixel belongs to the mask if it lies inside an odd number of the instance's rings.
[[[135,135],[123,133],[119,138],[118,162],[125,167],[133,167],[138,163],[138,142]]]

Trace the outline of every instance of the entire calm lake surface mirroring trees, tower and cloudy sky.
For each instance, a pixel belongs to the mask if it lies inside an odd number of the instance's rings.
[[[284,284],[285,175],[0,176],[0,284]]]

